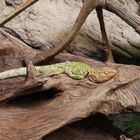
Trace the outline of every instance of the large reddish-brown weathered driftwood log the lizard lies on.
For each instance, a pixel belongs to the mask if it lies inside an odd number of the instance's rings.
[[[1,71],[22,66],[25,57],[30,54],[36,56],[38,53],[2,30],[0,38],[2,40]],[[95,84],[88,79],[73,80],[64,74],[49,77],[47,81],[42,80],[43,82],[38,82],[37,78],[35,79],[37,86],[33,83],[34,81],[32,82],[32,78],[28,78],[27,82],[24,78],[1,81],[0,139],[38,140],[43,137],[43,139],[49,139],[48,134],[56,129],[91,114],[110,115],[140,110],[139,67],[104,64],[70,54],[58,55],[51,63],[66,60],[82,61],[93,66],[110,65],[118,69],[118,74],[112,80],[102,84]],[[9,65],[9,62],[12,64]],[[25,83],[29,83],[27,88]],[[72,128],[76,129],[76,126],[74,124]],[[83,131],[82,129],[82,127],[79,128],[79,133]],[[99,137],[100,133],[94,130],[92,137]],[[67,129],[64,128],[65,131]],[[56,132],[56,135],[57,133],[59,135],[59,132]],[[104,139],[114,139],[106,136],[104,135]],[[87,132],[85,139],[89,137],[90,132]]]

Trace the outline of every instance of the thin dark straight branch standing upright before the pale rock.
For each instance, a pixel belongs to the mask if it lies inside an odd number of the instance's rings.
[[[103,44],[103,49],[106,55],[106,61],[107,62],[114,62],[113,59],[113,55],[112,55],[112,50],[111,47],[109,45],[109,41],[108,41],[108,37],[106,34],[106,30],[105,30],[105,23],[104,23],[104,17],[103,17],[103,8],[102,7],[97,7],[96,8],[96,12],[97,12],[97,17],[100,23],[100,30],[101,30],[101,34],[102,34],[102,44]]]

